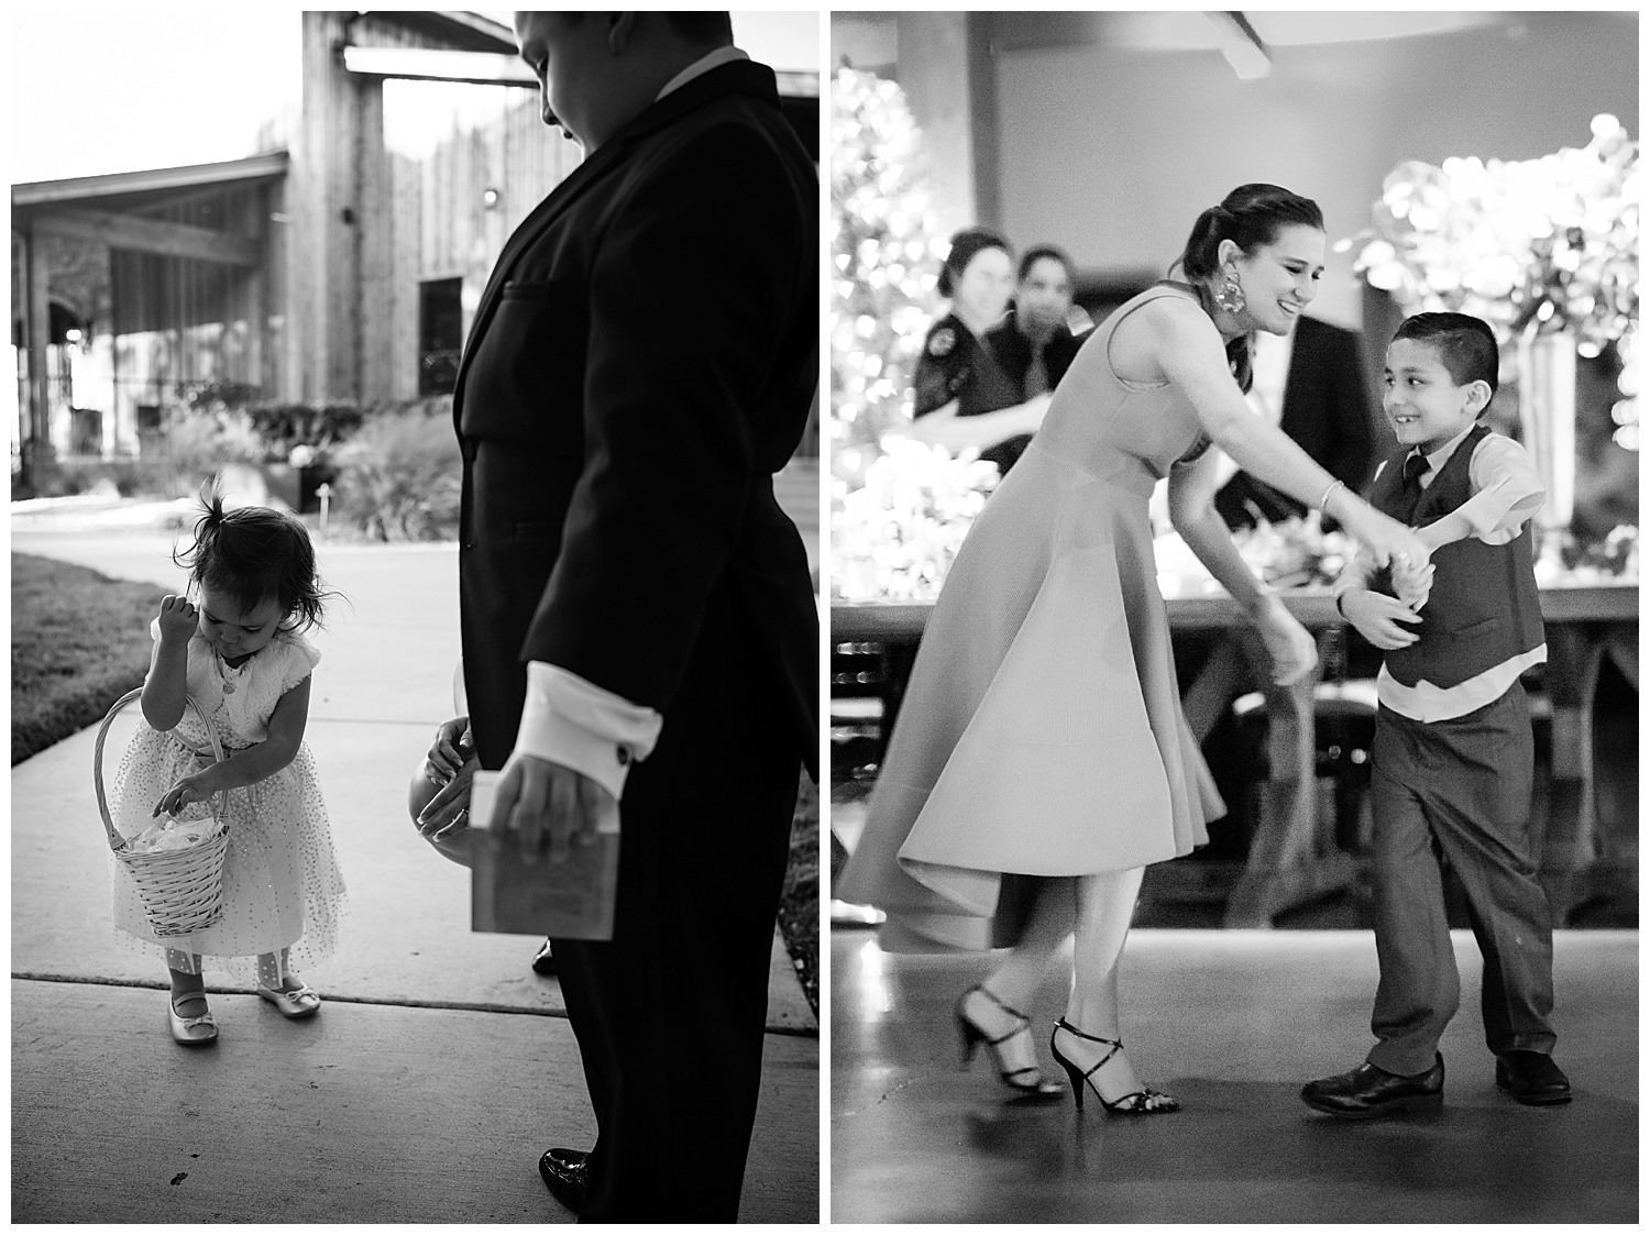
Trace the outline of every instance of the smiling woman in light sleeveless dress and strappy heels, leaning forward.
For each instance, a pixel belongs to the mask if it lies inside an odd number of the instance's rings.
[[[1247,569],[1213,506],[1209,444],[1325,509],[1381,562],[1422,569],[1414,533],[1318,467],[1246,401],[1249,335],[1285,335],[1323,274],[1317,204],[1244,185],[1198,216],[1160,282],[1077,353],[1041,429],[969,531],[929,620],[865,833],[838,895],[888,913],[889,950],[1008,955],[957,1003],[964,1057],[1058,1093],[1028,1007],[1076,935],[1051,1052],[1077,1106],[1170,1111],[1122,1050],[1117,963],[1142,871],[1224,813],[1175,683],[1147,501],[1168,477],[1176,531],[1242,605],[1279,681],[1315,646]]]

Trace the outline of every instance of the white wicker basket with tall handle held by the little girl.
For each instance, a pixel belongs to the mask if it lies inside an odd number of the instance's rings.
[[[116,699],[114,707],[109,709],[109,716],[104,717],[102,727],[97,730],[97,749],[92,752],[92,783],[97,787],[97,811],[102,815],[104,831],[109,834],[109,848],[114,851],[116,861],[125,867],[127,874],[132,876],[132,882],[137,884],[137,894],[144,902],[144,913],[148,917],[148,925],[155,935],[160,938],[193,935],[198,930],[206,930],[223,917],[223,857],[229,848],[229,824],[224,823],[223,815],[228,808],[228,791],[218,793],[213,800],[211,828],[198,844],[188,849],[162,852],[132,852],[127,848],[125,838],[120,836],[114,826],[114,819],[109,818],[109,801],[104,796],[102,783],[102,749],[104,740],[109,737],[109,726],[114,724],[116,716],[122,707],[129,707],[142,696],[144,693],[139,689]],[[211,724],[208,724],[193,699],[185,699],[185,704],[206,729],[206,735],[211,739],[213,758],[221,763],[223,744],[218,740],[218,734],[213,732]]]

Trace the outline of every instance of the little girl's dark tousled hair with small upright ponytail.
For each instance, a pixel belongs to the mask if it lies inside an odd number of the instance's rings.
[[[226,511],[223,493],[210,483],[201,490],[201,506],[195,542],[172,554],[190,572],[190,582],[226,592],[243,612],[274,597],[280,630],[318,627],[327,599],[337,592],[327,592],[315,574],[315,549],[304,524],[264,506]]]

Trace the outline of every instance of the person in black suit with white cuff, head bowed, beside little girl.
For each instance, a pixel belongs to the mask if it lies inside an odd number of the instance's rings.
[[[505,244],[454,392],[464,671],[495,823],[619,803],[612,942],[556,938],[582,1220],[731,1222],[818,618],[774,500],[818,384],[818,176],[726,13],[516,13],[584,163]]]

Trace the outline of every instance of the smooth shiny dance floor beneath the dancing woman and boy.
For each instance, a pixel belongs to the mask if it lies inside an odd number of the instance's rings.
[[[1554,940],[1566,1106],[1495,1088],[1480,960],[1457,932],[1462,1009],[1444,1110],[1345,1123],[1300,1085],[1368,1050],[1368,932],[1137,930],[1124,953],[1135,1070],[1183,1103],[1106,1118],[1016,1103],[983,1057],[957,1068],[950,1006],[983,956],[896,956],[832,932],[833,1222],[1637,1222],[1638,933]],[[1035,1009],[1048,1055],[1064,986]]]

